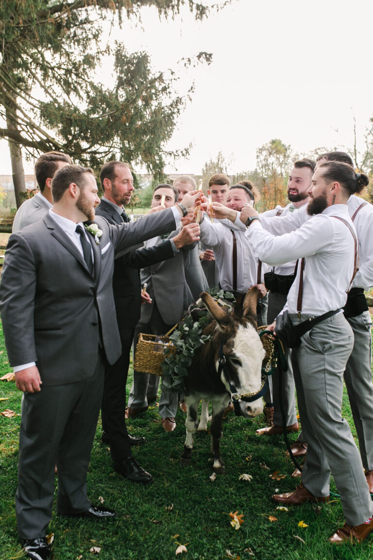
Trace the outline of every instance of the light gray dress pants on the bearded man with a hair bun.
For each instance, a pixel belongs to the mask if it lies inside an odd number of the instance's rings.
[[[294,324],[308,319],[291,314]],[[339,313],[315,325],[292,350],[300,421],[308,449],[302,472],[314,496],[328,496],[330,473],[341,495],[348,525],[373,515],[360,453],[342,418],[343,372],[353,347],[351,326]]]

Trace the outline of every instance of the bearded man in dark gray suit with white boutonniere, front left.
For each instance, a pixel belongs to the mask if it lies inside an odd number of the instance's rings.
[[[102,399],[103,358],[114,363],[121,353],[113,321],[114,256],[173,230],[186,213],[182,206],[111,226],[95,218],[100,199],[92,170],[74,165],[55,174],[52,193],[54,206],[44,219],[11,235],[0,288],[8,357],[16,385],[24,391],[18,533],[29,557],[42,559],[51,555],[45,535],[55,463],[59,515],[116,515],[92,506],[86,489]],[[184,206],[193,207],[197,196]]]

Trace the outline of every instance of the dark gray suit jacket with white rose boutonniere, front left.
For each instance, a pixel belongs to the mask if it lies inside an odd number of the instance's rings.
[[[112,292],[116,251],[174,230],[171,209],[134,223],[110,225],[96,216],[100,244],[91,241],[95,271],[47,214],[10,236],[0,287],[0,311],[12,366],[36,362],[44,385],[92,376],[102,341],[114,363],[121,343]]]

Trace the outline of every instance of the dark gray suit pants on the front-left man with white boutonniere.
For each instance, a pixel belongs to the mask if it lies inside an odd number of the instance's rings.
[[[57,513],[91,506],[86,477],[100,412],[104,379],[101,351],[84,381],[43,386],[22,398],[16,514],[21,539],[46,535],[52,515],[54,465],[58,467]]]

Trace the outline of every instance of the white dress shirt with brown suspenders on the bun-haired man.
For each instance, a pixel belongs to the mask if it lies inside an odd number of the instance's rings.
[[[347,300],[355,242],[347,225],[332,216],[344,218],[352,225],[346,204],[335,204],[288,234],[276,237],[257,220],[245,233],[259,258],[272,266],[305,257],[302,312],[308,315],[339,309]],[[299,279],[300,266],[284,307],[290,313],[297,312]]]

